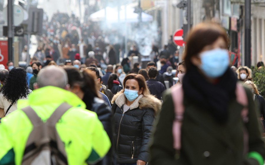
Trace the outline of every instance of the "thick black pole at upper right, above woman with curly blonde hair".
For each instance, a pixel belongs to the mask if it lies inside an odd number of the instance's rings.
[[[251,0],[245,0],[245,66],[251,66]]]

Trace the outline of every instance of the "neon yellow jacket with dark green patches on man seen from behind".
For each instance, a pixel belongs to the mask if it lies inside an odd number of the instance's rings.
[[[42,121],[47,121],[62,103],[73,106],[63,114],[55,127],[66,144],[69,165],[93,164],[110,149],[110,139],[97,114],[86,110],[85,103],[74,93],[47,86],[34,90],[28,100],[19,100],[18,110],[1,120],[0,165],[21,164],[27,138],[33,125],[21,108],[30,105]]]

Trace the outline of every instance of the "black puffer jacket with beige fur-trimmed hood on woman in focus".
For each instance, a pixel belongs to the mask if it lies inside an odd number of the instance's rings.
[[[125,102],[122,91],[112,99],[115,129],[113,146],[116,148],[117,163],[136,163],[138,159],[148,162],[150,131],[161,101],[153,95],[140,95],[130,106],[130,110],[123,113]]]

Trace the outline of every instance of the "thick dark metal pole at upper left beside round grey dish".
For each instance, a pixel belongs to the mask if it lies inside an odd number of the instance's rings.
[[[8,24],[8,60],[13,61],[13,0],[8,0],[7,4],[7,24]]]

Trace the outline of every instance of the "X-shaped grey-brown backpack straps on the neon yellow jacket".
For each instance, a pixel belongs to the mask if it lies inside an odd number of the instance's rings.
[[[57,154],[59,160],[57,161],[61,162],[59,164],[67,164],[67,155],[64,149],[64,143],[61,141],[55,125],[62,115],[71,107],[72,106],[67,103],[62,103],[58,108],[56,108],[56,110],[54,110],[50,118],[45,123],[42,122],[41,118],[30,106],[21,109],[24,113],[26,113],[34,126],[27,140],[22,164],[28,164],[35,158],[35,156],[32,155],[36,152],[35,150],[37,149],[37,146],[42,146],[48,143],[58,150]]]

